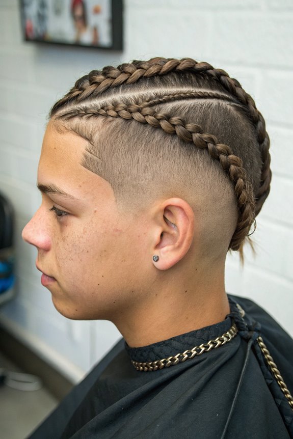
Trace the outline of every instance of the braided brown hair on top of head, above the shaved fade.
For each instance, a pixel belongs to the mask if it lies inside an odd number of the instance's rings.
[[[231,250],[242,248],[269,195],[270,140],[263,117],[236,79],[208,63],[153,58],[93,70],[55,103],[50,118],[71,123],[70,129],[93,147],[93,130],[82,130],[81,120],[136,121],[132,123],[139,132],[141,124],[189,146],[189,156],[191,151],[205,151],[212,160],[204,159],[217,162],[233,185],[238,218]],[[125,125],[126,136],[128,131]],[[94,148],[87,152],[99,158]],[[83,164],[96,170],[86,158]]]

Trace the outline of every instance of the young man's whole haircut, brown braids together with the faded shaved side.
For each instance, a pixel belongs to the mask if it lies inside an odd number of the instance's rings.
[[[269,194],[264,120],[239,83],[207,63],[156,58],[92,71],[50,117],[88,141],[82,165],[109,181],[118,203],[184,198],[210,245],[221,236],[238,250]]]

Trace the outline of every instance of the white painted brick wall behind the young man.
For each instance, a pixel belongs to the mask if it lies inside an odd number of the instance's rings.
[[[226,69],[268,121],[274,178],[245,267],[230,255],[227,291],[252,297],[293,335],[293,3],[291,0],[125,0],[122,53],[24,43],[16,0],[0,0],[0,188],[16,210],[17,292],[0,320],[78,379],[114,343],[109,322],[60,316],[40,285],[36,252],[21,241],[35,189],[46,114],[74,80],[103,65],[193,57]]]

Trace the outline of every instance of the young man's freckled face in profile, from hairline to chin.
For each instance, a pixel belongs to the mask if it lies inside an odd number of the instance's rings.
[[[22,236],[38,250],[42,283],[59,312],[112,319],[135,304],[138,282],[147,279],[146,225],[140,214],[121,213],[111,185],[80,164],[86,144],[49,123],[38,169],[42,204]]]

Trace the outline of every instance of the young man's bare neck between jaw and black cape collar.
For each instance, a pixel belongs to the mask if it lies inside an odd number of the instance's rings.
[[[140,347],[223,321],[230,312],[224,272],[213,278],[168,279],[155,282],[139,305],[114,323],[131,347]]]

